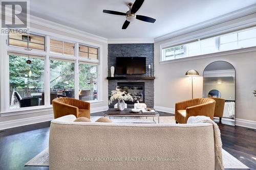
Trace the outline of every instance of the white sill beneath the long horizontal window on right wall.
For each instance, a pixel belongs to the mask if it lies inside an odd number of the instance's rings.
[[[159,63],[160,64],[176,63],[176,62],[181,62],[181,61],[197,60],[197,59],[201,59],[201,58],[217,57],[217,56],[223,56],[223,55],[239,54],[239,53],[254,52],[254,51],[256,51],[256,46],[240,48],[240,49],[236,49],[236,50],[229,50],[229,51],[225,51],[225,52],[204,54],[204,55],[193,56],[193,57],[185,57],[185,58],[174,59],[174,60],[160,61]]]

